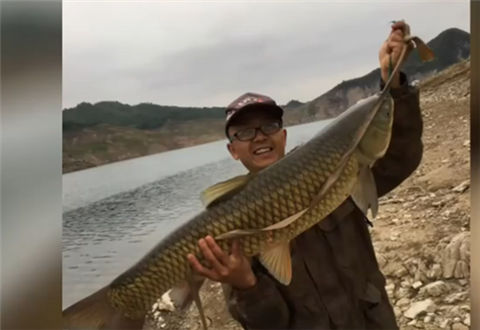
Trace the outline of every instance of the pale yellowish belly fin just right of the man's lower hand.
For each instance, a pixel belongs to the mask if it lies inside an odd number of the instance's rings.
[[[262,251],[258,260],[284,285],[292,280],[292,258],[290,256],[290,242],[279,242]]]

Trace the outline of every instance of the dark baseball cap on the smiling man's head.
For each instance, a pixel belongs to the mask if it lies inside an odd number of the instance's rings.
[[[275,103],[275,101],[266,96],[256,93],[245,93],[236,98],[225,109],[227,115],[225,121],[225,135],[228,137],[228,127],[232,123],[232,120],[238,116],[239,113],[244,112],[247,109],[253,107],[261,107],[264,110],[272,111],[279,119],[282,118],[283,109]]]

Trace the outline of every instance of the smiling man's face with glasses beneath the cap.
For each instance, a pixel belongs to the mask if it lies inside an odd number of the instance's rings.
[[[238,131],[260,127],[264,124],[278,121],[268,110],[255,109],[238,114],[228,129],[230,137]],[[285,155],[287,131],[280,129],[278,132],[266,135],[257,129],[256,136],[250,141],[233,141],[227,145],[230,154],[235,160],[240,160],[250,172],[258,172],[275,163]]]

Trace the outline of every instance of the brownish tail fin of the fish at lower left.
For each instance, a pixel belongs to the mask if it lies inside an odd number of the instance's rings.
[[[65,329],[101,329],[111,327],[113,322],[125,319],[115,310],[107,296],[109,287],[104,287],[90,296],[71,305],[62,312]],[[132,320],[133,321],[133,320]],[[142,321],[143,322],[143,321]]]

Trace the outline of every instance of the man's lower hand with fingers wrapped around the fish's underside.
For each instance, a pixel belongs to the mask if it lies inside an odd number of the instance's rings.
[[[237,289],[247,289],[257,283],[250,261],[243,255],[238,241],[233,242],[231,254],[225,253],[211,236],[200,239],[198,246],[211,268],[204,267],[193,254],[189,254],[187,258],[200,275],[212,281],[230,284]]]

